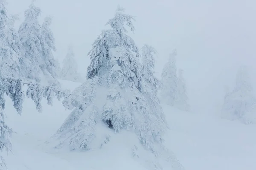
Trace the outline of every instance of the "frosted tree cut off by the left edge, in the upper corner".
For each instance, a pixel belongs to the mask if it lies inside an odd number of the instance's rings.
[[[12,77],[19,77],[19,57],[22,45],[14,29],[16,16],[7,16],[6,1],[0,1],[0,70]]]

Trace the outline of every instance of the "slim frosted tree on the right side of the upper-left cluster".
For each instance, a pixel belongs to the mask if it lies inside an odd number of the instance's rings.
[[[57,78],[58,62],[52,52],[56,51],[55,39],[49,26],[52,23],[51,17],[46,17],[41,28],[41,46],[42,46],[42,63],[41,69],[45,75],[50,74],[52,78]]]

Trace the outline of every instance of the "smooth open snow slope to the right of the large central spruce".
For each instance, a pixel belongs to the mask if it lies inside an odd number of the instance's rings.
[[[186,170],[256,170],[256,125],[163,109],[166,143]]]

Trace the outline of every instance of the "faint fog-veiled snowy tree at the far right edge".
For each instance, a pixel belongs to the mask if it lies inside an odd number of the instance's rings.
[[[227,92],[222,107],[222,118],[256,123],[256,98],[246,66],[239,68],[233,91]]]

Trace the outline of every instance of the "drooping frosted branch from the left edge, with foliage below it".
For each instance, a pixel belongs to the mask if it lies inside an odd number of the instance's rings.
[[[5,123],[5,95],[12,99],[13,107],[16,109],[18,114],[21,114],[23,100],[25,97],[25,94],[22,90],[23,85],[28,86],[26,96],[34,101],[38,112],[41,112],[42,110],[42,97],[47,99],[47,103],[49,105],[52,105],[52,98],[54,96],[60,100],[61,97],[66,97],[69,94],[69,91],[61,91],[57,86],[44,87],[37,83],[26,83],[21,79],[5,76],[0,71],[0,151],[6,150],[8,152],[12,149],[12,144],[10,141],[12,136],[12,129]],[[0,168],[6,168],[6,164],[2,157],[0,157]]]

